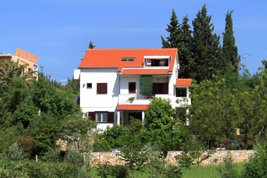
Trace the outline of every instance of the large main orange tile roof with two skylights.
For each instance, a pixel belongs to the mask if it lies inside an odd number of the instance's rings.
[[[88,49],[79,68],[115,67],[121,72],[123,67],[143,67],[144,56],[171,56],[168,71],[172,71],[177,48],[156,49]],[[134,61],[121,61],[123,57],[135,57]]]

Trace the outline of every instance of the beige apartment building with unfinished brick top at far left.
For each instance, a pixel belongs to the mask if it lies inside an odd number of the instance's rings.
[[[32,76],[34,79],[38,80],[38,57],[16,48],[16,54],[11,54],[10,52],[0,53],[0,62],[4,60],[17,62],[19,59],[19,65],[28,64],[22,73],[26,71],[35,71]]]

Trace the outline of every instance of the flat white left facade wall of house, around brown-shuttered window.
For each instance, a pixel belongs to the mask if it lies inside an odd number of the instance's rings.
[[[92,83],[92,89],[87,89],[87,83]],[[107,83],[107,94],[96,94],[96,83]],[[117,76],[117,69],[80,70],[80,107],[83,112],[114,112],[114,123],[117,123],[116,107],[119,93],[120,78]],[[101,123],[98,128],[105,129],[108,125],[112,126],[113,124]]]

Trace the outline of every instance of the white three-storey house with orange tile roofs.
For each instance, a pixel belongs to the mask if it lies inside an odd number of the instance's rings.
[[[128,124],[130,116],[144,120],[152,96],[187,97],[191,79],[177,78],[179,60],[176,48],[168,49],[88,49],[74,79],[80,80],[80,107],[99,122],[99,128]],[[152,76],[152,91],[145,95],[140,78]],[[145,91],[147,93],[147,91]],[[128,101],[134,97],[133,101]],[[187,111],[188,112],[188,111]]]

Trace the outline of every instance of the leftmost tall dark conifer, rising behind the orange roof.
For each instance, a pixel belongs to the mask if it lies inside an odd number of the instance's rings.
[[[178,17],[176,16],[176,13],[174,9],[172,9],[172,15],[170,18],[171,22],[170,24],[167,24],[168,28],[166,31],[170,33],[170,36],[167,37],[167,41],[162,37],[162,48],[177,48],[178,47],[178,38],[179,34],[181,32],[180,23],[178,22]]]

